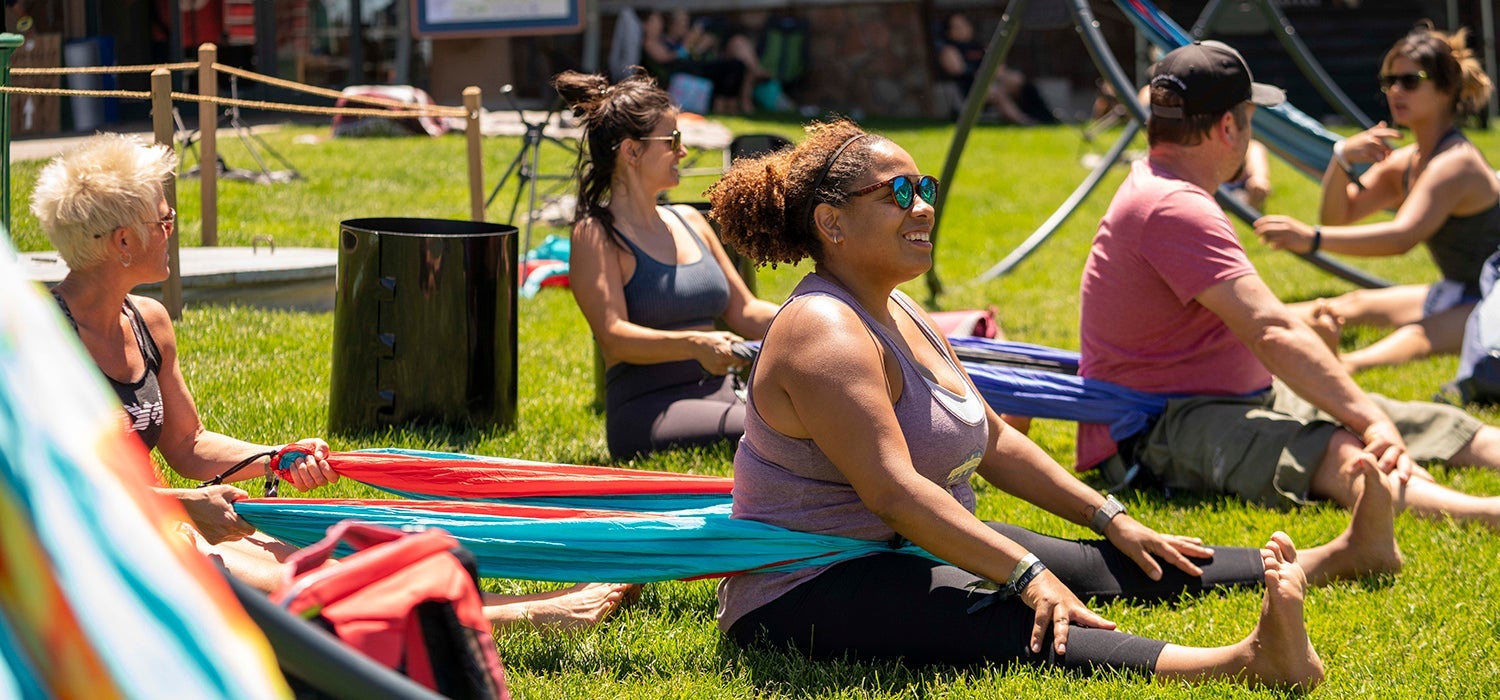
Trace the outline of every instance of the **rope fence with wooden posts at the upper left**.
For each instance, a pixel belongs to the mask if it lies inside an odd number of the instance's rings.
[[[10,34],[6,34],[10,37]],[[15,37],[20,39],[20,37]],[[20,42],[16,42],[16,46]],[[363,94],[344,94],[338,90],[328,90],[324,87],[308,85],[303,82],[288,81],[282,78],[274,78],[270,75],[261,75],[252,70],[244,70],[234,66],[225,66],[218,61],[219,49],[213,43],[204,43],[198,48],[196,61],[183,63],[156,63],[156,64],[136,64],[136,66],[78,66],[78,67],[16,67],[10,69],[10,51],[14,46],[6,43],[3,46],[6,51],[0,55],[0,103],[9,100],[10,94],[36,94],[36,96],[68,96],[68,97],[114,97],[114,99],[138,99],[152,102],[152,120],[154,127],[156,142],[164,145],[171,145],[174,142],[172,133],[172,102],[196,102],[198,108],[198,144],[200,144],[200,162],[214,163],[218,162],[218,111],[222,106],[236,106],[246,109],[262,109],[262,111],[280,111],[280,112],[296,112],[296,114],[320,114],[320,115],[334,115],[334,117],[382,117],[382,118],[462,118],[465,120],[465,130],[468,133],[468,180],[470,180],[470,217],[476,222],[484,220],[484,196],[483,196],[483,162],[482,162],[482,139],[480,139],[480,88],[468,87],[464,90],[464,106],[446,106],[446,105],[412,105],[408,102],[399,102],[380,96],[363,96]],[[198,72],[198,93],[178,93],[171,90],[171,72],[174,70],[196,70]],[[10,85],[9,78],[12,75],[98,75],[98,73],[152,73],[152,90],[75,90],[75,88],[57,88],[57,87],[30,87],[30,85]],[[306,94],[315,94],[321,97],[354,102],[369,106],[316,106],[316,105],[292,105],[285,102],[266,102],[266,100],[249,100],[238,97],[220,97],[219,90],[219,75],[228,73],[236,78],[244,78],[250,81],[258,81],[267,85],[280,87],[286,90],[294,90]],[[0,120],[4,123],[3,139],[4,151],[9,153],[10,145],[10,114],[4,111],[0,114]],[[6,175],[9,175],[9,166],[6,168]],[[10,186],[9,178],[4,178],[4,223],[9,225],[9,202],[10,202]],[[218,171],[216,168],[198,168],[198,183],[201,187],[201,204],[202,204],[202,244],[216,246],[218,244]],[[168,187],[168,204],[177,205],[176,186]],[[170,241],[170,268],[171,276],[164,288],[166,307],[172,318],[182,313],[182,280],[177,268],[177,238],[172,237]]]

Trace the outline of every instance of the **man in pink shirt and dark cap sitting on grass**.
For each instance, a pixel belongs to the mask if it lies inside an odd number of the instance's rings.
[[[1353,505],[1341,469],[1374,459],[1398,507],[1500,526],[1500,498],[1438,486],[1413,460],[1500,465],[1500,430],[1462,411],[1365,394],[1266,288],[1214,201],[1245,160],[1256,106],[1286,94],[1233,48],[1198,42],[1152,69],[1149,156],[1100,222],[1082,285],[1080,375],[1172,394],[1156,423],[1116,444],[1078,427],[1078,465],[1232,493],[1266,505]]]

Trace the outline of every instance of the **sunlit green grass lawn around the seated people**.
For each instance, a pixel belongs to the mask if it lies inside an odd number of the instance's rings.
[[[736,133],[800,133],[794,121],[726,120]],[[872,127],[904,145],[932,174],[942,169],[950,124],[886,121]],[[322,139],[327,129],[286,127],[266,138],[303,172],[300,181],[255,186],[220,181],[219,226],[224,244],[249,244],[270,234],[284,246],[332,247],[340,219],[368,216],[466,217],[464,138]],[[1472,133],[1500,162],[1500,136]],[[1106,138],[1113,138],[1108,135]],[[219,141],[231,165],[249,156],[226,135]],[[1096,144],[1095,151],[1107,144]],[[519,139],[486,139],[489,186],[508,163]],[[1144,147],[1142,142],[1138,147]],[[1078,165],[1089,145],[1076,127],[981,127],[950,189],[942,213],[936,265],[945,309],[993,304],[1017,340],[1077,348],[1078,276],[1089,238],[1124,177],[1118,168],[1058,235],[1012,274],[974,283],[1042,220],[1084,177]],[[712,157],[712,156],[710,156]],[[564,153],[544,153],[543,171],[572,165]],[[22,250],[50,247],[26,210],[40,163],[15,169],[15,241]],[[690,178],[674,198],[698,201],[711,178]],[[1274,162],[1275,192],[1268,210],[1311,217],[1316,183]],[[488,187],[486,187],[488,193]],[[501,205],[500,202],[507,202]],[[178,186],[183,244],[196,244],[196,181]],[[502,193],[492,217],[508,211]],[[1286,253],[1262,249],[1240,226],[1245,244],[1268,283],[1287,300],[1334,295],[1352,286]],[[532,238],[562,229],[538,226]],[[1360,261],[1396,282],[1430,282],[1425,252]],[[762,270],[762,297],[780,301],[806,267]],[[906,288],[927,300],[926,285]],[[183,370],[206,424],[260,442],[285,442],[324,432],[328,405],[332,313],[290,313],[234,307],[194,307],[177,325]],[[1347,348],[1377,334],[1350,331]],[[512,432],[402,429],[384,435],[330,435],[336,450],[412,447],[500,454],[522,459],[608,463],[603,417],[590,409],[592,358],[588,330],[572,297],[544,289],[522,300],[519,318],[520,405]],[[1371,391],[1426,399],[1455,369],[1454,358],[1413,363],[1360,375]],[[1496,423],[1494,412],[1482,417]],[[1038,421],[1032,435],[1053,457],[1072,462],[1072,426]],[[728,448],[660,454],[628,466],[694,474],[730,474]],[[1500,495],[1500,475],[1437,469],[1458,489]],[[249,484],[254,490],[256,486]],[[320,496],[368,496],[344,481]],[[1344,511],[1310,507],[1296,513],[1250,508],[1224,499],[1132,493],[1125,498],[1142,522],[1161,531],[1200,535],[1216,544],[1258,546],[1275,529],[1300,544],[1338,534]],[[1014,498],[980,490],[980,514],[1062,537],[1088,531],[1062,523]],[[1500,535],[1478,526],[1420,522],[1401,516],[1396,534],[1407,568],[1396,577],[1340,583],[1311,592],[1308,628],[1323,661],[1323,697],[1492,697],[1500,694]],[[537,583],[488,582],[494,589],[534,589]],[[1232,592],[1174,606],[1101,606],[1126,631],[1186,645],[1224,645],[1250,631],[1257,592]],[[878,612],[872,610],[872,615]],[[600,697],[1244,697],[1258,693],[1232,685],[1161,687],[1130,676],[1078,676],[1034,669],[908,669],[900,664],[807,663],[778,652],[744,651],[714,628],[712,582],[660,583],[639,604],[597,631],[570,639],[518,633],[501,640],[513,688],[526,699]]]

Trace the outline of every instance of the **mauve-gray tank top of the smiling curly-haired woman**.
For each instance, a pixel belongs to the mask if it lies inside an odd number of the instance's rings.
[[[832,297],[860,315],[902,366],[902,396],[897,399],[896,420],[906,436],[906,448],[916,472],[948,489],[954,501],[974,511],[974,489],[969,477],[980,466],[988,444],[988,424],[982,399],[974,382],[964,376],[966,396],[962,402],[980,402],[980,411],[963,411],[939,397],[936,385],[916,370],[916,363],[896,343],[874,319],[854,301],[843,288],[808,274],[788,303],[804,295]],[[927,342],[944,349],[938,331],[927,327],[904,294],[892,298],[916,321]],[[784,306],[783,306],[784,309]],[[898,541],[898,535],[860,501],[849,480],[810,439],[789,438],[760,420],[754,408],[754,384],[746,408],[746,435],[735,451],[734,516],[800,532],[840,535],[856,540]],[[964,420],[963,414],[975,415]],[[728,631],[746,613],[782,597],[800,583],[824,573],[828,567],[812,567],[786,573],[740,574],[718,585],[718,628]]]

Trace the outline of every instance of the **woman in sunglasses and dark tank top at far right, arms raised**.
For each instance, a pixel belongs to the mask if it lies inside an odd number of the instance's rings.
[[[1268,246],[1299,253],[1401,255],[1426,244],[1443,274],[1432,285],[1359,289],[1299,304],[1335,351],[1346,322],[1395,328],[1344,354],[1350,372],[1458,352],[1464,322],[1479,301],[1480,267],[1500,244],[1500,181],[1458,129],[1462,115],[1485,109],[1491,91],[1464,36],[1419,24],[1380,64],[1390,118],[1416,142],[1392,147],[1401,132],[1384,121],[1340,141],[1323,174],[1322,226],[1288,216],[1256,222]],[[1356,175],[1354,166],[1364,163],[1370,169]],[[1354,225],[1392,208],[1388,222]]]

